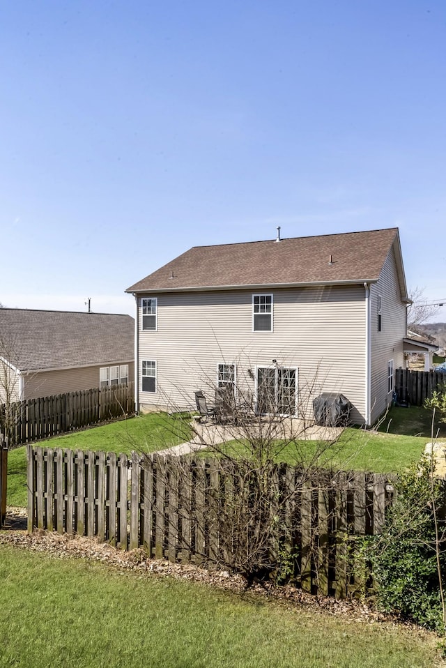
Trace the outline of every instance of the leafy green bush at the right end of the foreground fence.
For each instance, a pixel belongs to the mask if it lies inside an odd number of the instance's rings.
[[[383,533],[366,548],[378,607],[443,633],[433,503],[436,509],[444,508],[444,483],[431,479],[430,458],[423,457],[420,464],[400,476],[396,492]],[[444,512],[442,517],[438,556],[444,574]]]

